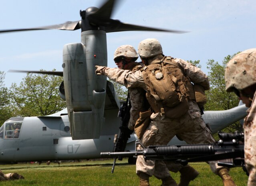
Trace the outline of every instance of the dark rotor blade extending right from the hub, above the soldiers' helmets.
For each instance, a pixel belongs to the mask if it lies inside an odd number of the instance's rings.
[[[152,27],[122,23],[119,20],[114,20],[114,21],[116,21],[115,24],[111,24],[111,25],[105,27],[105,30],[106,30],[107,33],[109,33],[109,32],[122,32],[122,31],[136,31],[136,30],[137,31],[173,32],[173,33],[176,33],[176,34],[187,33],[187,31],[181,31],[181,30],[165,30],[165,29],[159,29],[159,28],[152,28]]]

